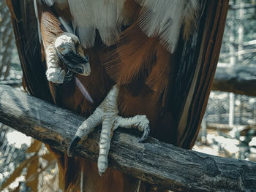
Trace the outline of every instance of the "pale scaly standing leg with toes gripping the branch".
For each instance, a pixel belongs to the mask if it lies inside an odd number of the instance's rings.
[[[113,136],[113,131],[115,131],[116,128],[138,128],[138,131],[143,132],[143,137],[140,138],[139,142],[145,140],[149,134],[149,121],[146,115],[136,115],[132,118],[122,118],[118,116],[118,89],[118,85],[113,86],[104,101],[102,101],[94,113],[78,128],[67,150],[69,156],[74,155],[75,147],[78,145],[78,142],[86,139],[89,132],[102,123],[102,131],[99,139],[99,175],[102,175],[108,167],[110,141]]]

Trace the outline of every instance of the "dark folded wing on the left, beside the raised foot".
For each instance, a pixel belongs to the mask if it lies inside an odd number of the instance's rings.
[[[16,45],[23,70],[23,87],[40,99],[53,101],[45,77],[45,63],[42,61],[33,1],[7,0],[7,5],[12,15]]]

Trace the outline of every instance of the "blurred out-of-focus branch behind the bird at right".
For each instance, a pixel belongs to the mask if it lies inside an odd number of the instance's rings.
[[[211,89],[247,96],[256,96],[256,67],[254,65],[217,67]]]

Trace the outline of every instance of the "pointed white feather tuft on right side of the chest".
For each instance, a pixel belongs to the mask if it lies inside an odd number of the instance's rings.
[[[135,0],[143,8],[140,28],[148,37],[159,37],[160,42],[173,53],[181,26],[195,20],[198,0]]]

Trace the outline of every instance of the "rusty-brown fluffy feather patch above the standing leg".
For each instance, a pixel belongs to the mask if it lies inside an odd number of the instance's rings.
[[[160,96],[166,97],[170,71],[173,71],[171,54],[157,38],[146,37],[138,23],[127,28],[116,47],[104,50],[102,55],[106,72],[118,85],[145,83],[154,91],[150,97],[151,104],[156,104]]]

